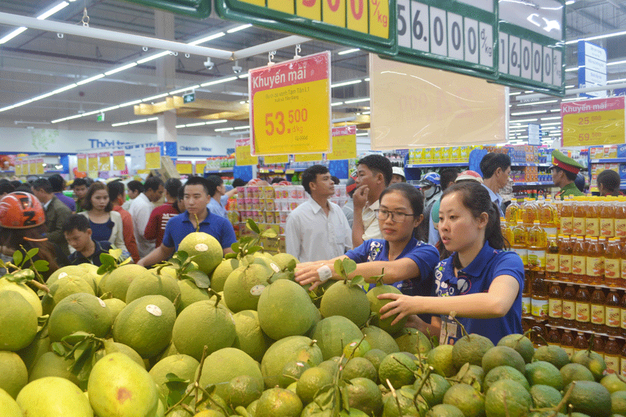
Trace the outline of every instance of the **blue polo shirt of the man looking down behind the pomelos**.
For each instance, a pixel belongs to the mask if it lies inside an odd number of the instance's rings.
[[[221,218],[208,210],[207,212],[207,217],[200,222],[200,231],[216,238],[222,245],[222,249],[230,247],[230,245],[236,242],[232,224],[225,218]],[[168,221],[165,232],[163,232],[163,245],[173,247],[177,251],[178,245],[180,245],[185,236],[194,231],[195,227],[189,220],[189,212],[180,213]]]

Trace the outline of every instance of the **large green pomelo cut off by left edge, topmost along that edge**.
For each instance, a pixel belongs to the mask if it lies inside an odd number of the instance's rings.
[[[20,350],[37,334],[37,313],[17,291],[0,291],[0,350]]]

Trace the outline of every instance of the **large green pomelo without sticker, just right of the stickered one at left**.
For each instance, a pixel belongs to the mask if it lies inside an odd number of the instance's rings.
[[[236,338],[230,311],[214,302],[198,301],[184,309],[176,318],[172,341],[176,350],[200,361],[204,345],[207,354],[231,347]]]

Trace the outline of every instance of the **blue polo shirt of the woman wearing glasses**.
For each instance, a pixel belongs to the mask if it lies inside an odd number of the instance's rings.
[[[346,256],[356,263],[371,261],[389,261],[389,242],[385,239],[365,240],[362,245],[348,250]],[[435,295],[435,279],[433,270],[439,262],[439,252],[433,245],[411,238],[397,259],[408,258],[414,261],[419,268],[419,277],[397,281],[392,286],[398,288],[404,295],[421,295],[433,297]],[[370,284],[374,286],[374,284]],[[431,322],[431,316],[419,315],[422,320]]]

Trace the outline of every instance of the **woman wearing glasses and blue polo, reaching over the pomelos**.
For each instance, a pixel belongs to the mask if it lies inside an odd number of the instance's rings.
[[[300,263],[296,266],[296,281],[302,285],[312,284],[314,289],[328,279],[324,272],[329,268],[330,279],[340,279],[333,265],[337,259],[350,258],[357,263],[351,276],[362,275],[365,281],[375,284],[372,277],[380,275],[384,268],[383,282],[395,286],[401,293],[435,295],[433,270],[439,262],[439,252],[414,236],[414,230],[424,220],[423,210],[424,197],[419,190],[407,183],[392,184],[380,195],[380,207],[376,210],[383,239],[365,240],[335,259]],[[422,320],[430,322],[430,316],[425,315]],[[426,329],[424,323],[415,318],[410,322],[413,327]]]

